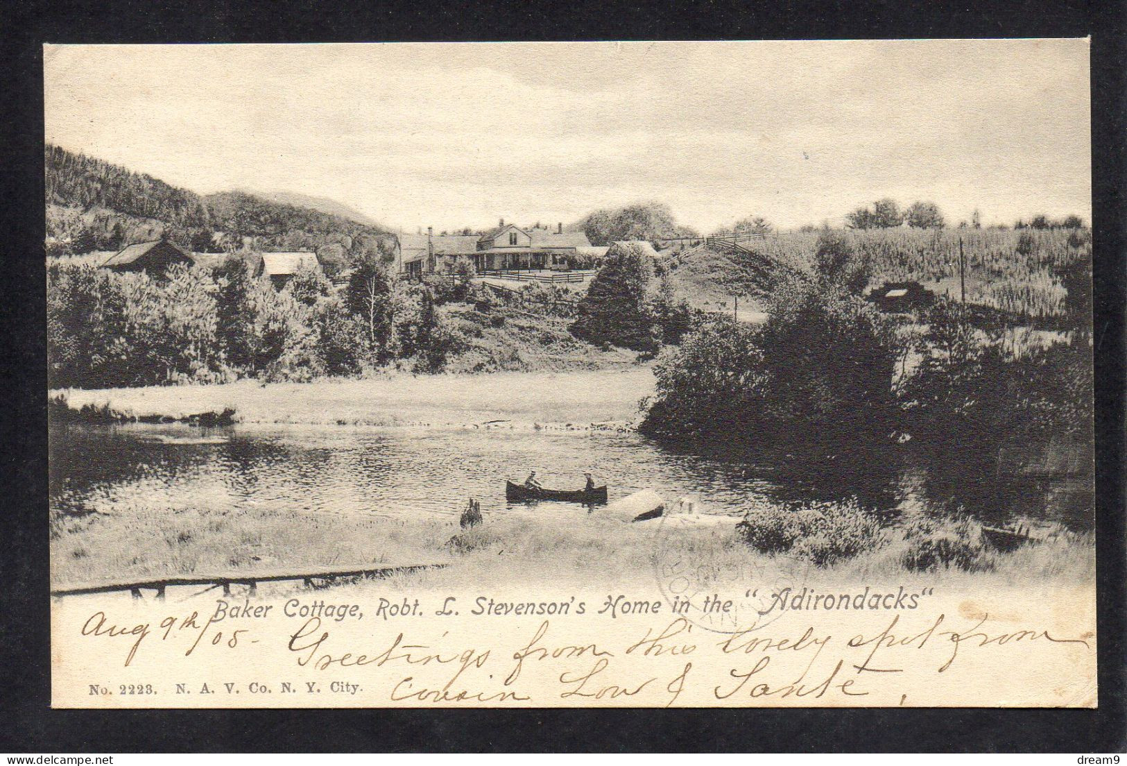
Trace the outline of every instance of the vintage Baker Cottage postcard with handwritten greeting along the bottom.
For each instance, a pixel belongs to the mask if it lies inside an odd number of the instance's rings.
[[[44,65],[55,707],[1097,706],[1088,39]]]

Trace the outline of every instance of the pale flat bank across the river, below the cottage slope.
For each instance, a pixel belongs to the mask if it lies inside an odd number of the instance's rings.
[[[179,420],[204,412],[234,411],[242,423],[468,424],[629,421],[638,399],[651,394],[649,366],[574,372],[334,378],[309,384],[240,380],[218,386],[148,386],[100,390],[63,389],[65,406],[108,408],[137,420]]]

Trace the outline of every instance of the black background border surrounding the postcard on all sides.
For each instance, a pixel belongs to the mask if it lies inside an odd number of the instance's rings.
[[[0,751],[1121,751],[1124,11],[1106,2],[28,2],[0,8],[5,498]],[[1092,37],[1100,707],[1080,710],[50,708],[42,44]],[[816,116],[815,116],[816,118]],[[1035,211],[1030,211],[1035,212]]]

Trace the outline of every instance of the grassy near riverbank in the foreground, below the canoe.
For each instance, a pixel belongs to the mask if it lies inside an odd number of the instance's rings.
[[[399,575],[403,587],[500,587],[520,582],[612,588],[655,576],[663,562],[691,562],[704,588],[733,572],[801,571],[808,582],[912,582],[976,578],[999,584],[1094,576],[1091,536],[1062,537],[1000,553],[975,552],[976,566],[905,567],[905,539],[893,530],[885,545],[817,565],[798,551],[762,553],[746,542],[737,519],[678,523],[676,517],[628,523],[596,509],[573,507],[485,513],[470,531],[459,514],[372,514],[264,511],[254,508],[134,509],[56,520],[51,540],[56,585],[193,572],[256,569],[445,563],[446,569]],[[692,517],[689,520],[693,520]],[[124,543],[126,542],[127,543]]]

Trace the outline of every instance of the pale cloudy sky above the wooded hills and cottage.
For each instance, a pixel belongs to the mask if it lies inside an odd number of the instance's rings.
[[[667,203],[711,231],[891,196],[1091,217],[1088,39],[48,45],[45,137],[394,229]]]

